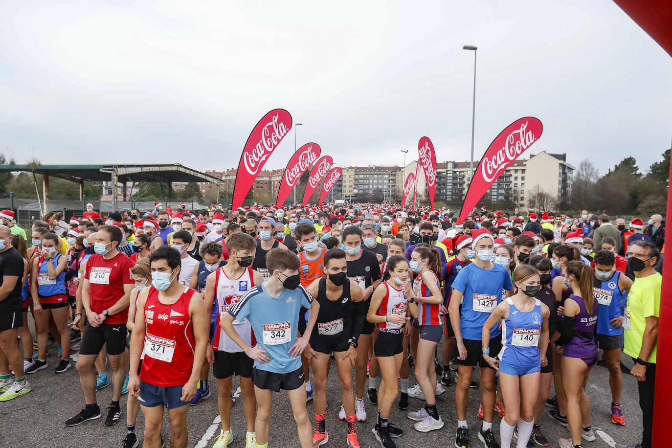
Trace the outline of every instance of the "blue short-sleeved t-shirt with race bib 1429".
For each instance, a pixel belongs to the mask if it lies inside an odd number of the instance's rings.
[[[495,307],[502,300],[502,289],[513,288],[509,271],[494,264],[492,269],[482,269],[469,263],[460,269],[453,281],[453,289],[462,293],[460,330],[462,339],[480,341],[481,331]],[[497,325],[490,330],[490,338],[500,334]]]

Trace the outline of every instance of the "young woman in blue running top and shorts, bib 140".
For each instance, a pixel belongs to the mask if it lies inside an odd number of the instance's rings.
[[[534,408],[539,394],[541,367],[546,365],[548,318],[550,310],[534,296],[539,292],[540,276],[530,265],[513,271],[517,291],[503,300],[482,329],[483,359],[499,369],[499,382],[506,414],[499,424],[501,448],[511,447],[517,425],[517,448],[525,448],[534,427]],[[490,331],[502,322],[502,349],[499,359],[490,354]]]

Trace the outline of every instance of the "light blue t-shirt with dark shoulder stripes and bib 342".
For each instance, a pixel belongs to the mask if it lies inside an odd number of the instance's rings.
[[[312,296],[304,287],[283,289],[273,298],[264,283],[252,287],[228,310],[239,322],[247,318],[257,340],[257,345],[268,352],[271,361],[254,361],[255,369],[274,373],[289,373],[301,368],[301,357],[290,357],[290,349],[296,343],[298,314],[301,307],[310,308]]]

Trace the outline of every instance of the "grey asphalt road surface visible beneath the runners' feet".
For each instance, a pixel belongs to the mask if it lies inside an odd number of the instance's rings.
[[[439,353],[441,353],[439,349]],[[56,350],[50,349],[48,357],[49,367],[34,375],[29,375],[32,392],[19,396],[15,400],[0,403],[0,447],[120,447],[126,436],[126,396],[122,396],[122,418],[115,427],[105,427],[104,407],[110,402],[112,387],[103,388],[98,392],[98,402],[103,408],[103,416],[98,420],[85,422],[78,427],[65,426],[65,420],[74,416],[83,406],[83,395],[79,386],[79,376],[74,368],[56,375],[54,369],[58,363]],[[632,365],[628,357],[623,357],[624,363]],[[108,367],[108,373],[110,369]],[[219,434],[220,425],[216,401],[216,382],[210,375],[210,390],[212,398],[204,400],[198,406],[192,406],[187,414],[187,429],[189,431],[189,447],[212,447],[214,437]],[[413,386],[411,377],[411,386]],[[234,380],[234,388],[238,386]],[[638,406],[638,392],[636,380],[632,375],[624,374],[622,409],[626,416],[626,426],[618,427],[610,420],[611,393],[609,388],[609,373],[605,367],[596,366],[591,372],[587,394],[591,401],[591,422],[597,435],[593,442],[584,443],[585,447],[614,446],[614,440],[619,443],[634,444],[641,438],[641,413]],[[447,392],[439,396],[437,403],[444,422],[443,429],[431,433],[419,433],[413,428],[413,421],[409,420],[406,412],[421,408],[423,402],[409,399],[410,407],[407,411],[399,410],[395,404],[392,408],[390,420],[405,431],[403,437],[394,439],[396,445],[402,447],[452,447],[457,427],[455,417],[454,386],[447,388]],[[327,432],[329,442],[324,447],[345,447],[347,427],[345,422],[337,419],[340,409],[341,392],[337,379],[337,371],[331,369],[327,385]],[[480,420],[476,416],[480,392],[470,390],[468,408],[468,425],[471,431],[471,446],[480,447],[476,428],[480,427]],[[358,423],[358,435],[362,448],[379,446],[371,432],[376,418],[376,408],[366,401],[368,420]],[[308,415],[314,424],[312,402],[308,402]],[[166,412],[167,416],[167,412]],[[493,422],[495,437],[499,437],[499,417],[495,413]],[[235,440],[232,447],[245,446],[245,416],[241,402],[233,407],[233,433]],[[550,420],[546,412],[542,413],[540,421],[542,431],[546,434],[551,447],[558,446],[558,438],[569,437],[569,431]],[[271,414],[270,447],[298,447],[296,424],[291,414],[291,407],[286,394],[278,393],[274,397]],[[164,420],[163,437],[168,441],[170,427],[167,418]],[[138,416],[136,434],[142,439],[143,419],[142,412]],[[613,439],[613,440],[612,440]],[[166,446],[169,446],[167,443]],[[515,446],[515,439],[513,441]]]

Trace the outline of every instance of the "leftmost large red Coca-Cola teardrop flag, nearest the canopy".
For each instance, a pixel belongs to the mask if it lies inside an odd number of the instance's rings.
[[[278,144],[292,129],[292,116],[285,109],[273,109],[263,116],[250,132],[238,163],[233,187],[233,210],[243,205],[247,192],[257,179],[259,171],[278,148]]]

